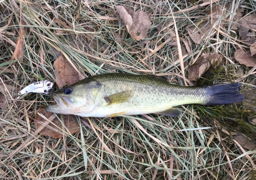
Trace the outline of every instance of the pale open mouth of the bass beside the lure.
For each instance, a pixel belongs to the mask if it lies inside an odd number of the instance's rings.
[[[68,109],[70,109],[73,104],[72,99],[59,96],[55,93],[51,94],[51,97],[53,97],[57,104],[45,106],[45,110],[52,113],[68,114]]]

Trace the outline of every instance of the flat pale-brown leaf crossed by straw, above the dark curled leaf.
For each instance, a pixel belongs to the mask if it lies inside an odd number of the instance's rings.
[[[196,25],[196,26],[195,26]],[[212,26],[210,25],[210,22],[205,20],[201,22],[201,20],[195,22],[195,25],[189,25],[186,27],[186,30],[191,37],[191,39],[199,44],[201,43],[206,36],[211,32]]]

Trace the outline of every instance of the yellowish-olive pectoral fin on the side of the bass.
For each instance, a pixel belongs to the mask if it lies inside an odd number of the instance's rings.
[[[126,102],[132,98],[132,91],[123,91],[120,93],[116,93],[105,97],[105,101],[108,102],[108,105],[118,104],[122,102]]]

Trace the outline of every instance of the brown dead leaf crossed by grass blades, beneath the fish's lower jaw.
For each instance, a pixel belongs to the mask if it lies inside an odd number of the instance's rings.
[[[46,118],[49,118],[54,114],[54,113],[45,111],[44,108],[45,106],[43,105],[36,111],[36,116],[34,120],[36,128],[38,128],[42,123],[46,121],[44,118],[39,116],[38,113],[41,113]],[[61,115],[58,115],[58,116],[60,117]],[[62,115],[62,123],[70,131],[71,134],[78,132],[80,130],[79,123],[77,122],[76,116],[74,115]],[[49,123],[48,126],[42,129],[39,133],[41,135],[50,136],[52,138],[62,138],[63,131],[67,132],[67,129],[65,127],[62,127],[62,123],[56,117],[55,119],[52,120],[52,123]]]

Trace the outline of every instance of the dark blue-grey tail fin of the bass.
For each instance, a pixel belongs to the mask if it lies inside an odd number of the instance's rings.
[[[244,100],[244,95],[240,94],[239,83],[217,84],[208,86],[209,98],[205,105],[220,105],[238,103]]]

